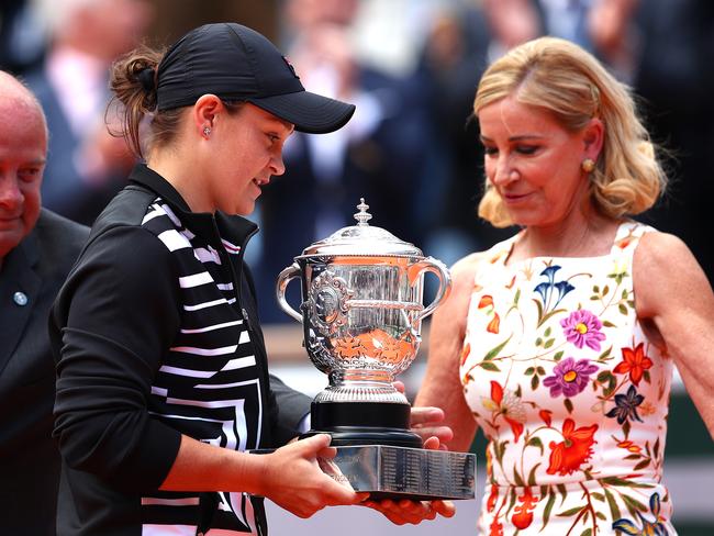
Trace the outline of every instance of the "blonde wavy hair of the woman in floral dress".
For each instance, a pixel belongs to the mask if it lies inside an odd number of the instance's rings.
[[[570,132],[593,118],[603,122],[604,143],[590,174],[590,196],[604,215],[639,214],[665,191],[667,176],[629,89],[578,45],[540,37],[511,49],[483,74],[473,114],[478,118],[484,107],[509,96],[548,110]],[[497,227],[513,225],[488,178],[479,216]]]

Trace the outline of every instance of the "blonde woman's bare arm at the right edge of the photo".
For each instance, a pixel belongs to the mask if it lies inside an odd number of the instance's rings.
[[[635,250],[637,315],[655,328],[714,438],[714,293],[676,236],[647,233]]]

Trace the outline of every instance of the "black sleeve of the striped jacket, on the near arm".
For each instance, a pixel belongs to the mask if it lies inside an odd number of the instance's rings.
[[[88,246],[53,310],[62,455],[120,489],[157,489],[178,453],[180,433],[147,410],[180,322],[176,281],[155,235],[115,227]]]

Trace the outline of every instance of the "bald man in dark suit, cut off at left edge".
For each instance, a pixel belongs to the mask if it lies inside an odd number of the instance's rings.
[[[47,316],[89,230],[41,208],[47,126],[0,71],[0,534],[55,534],[59,455]]]

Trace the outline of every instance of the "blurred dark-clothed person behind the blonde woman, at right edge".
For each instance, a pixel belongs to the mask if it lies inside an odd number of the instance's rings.
[[[655,139],[671,147],[666,203],[648,214],[681,236],[714,281],[710,179],[714,148],[714,3],[648,0],[637,16],[642,52],[633,81]]]

